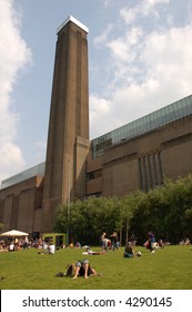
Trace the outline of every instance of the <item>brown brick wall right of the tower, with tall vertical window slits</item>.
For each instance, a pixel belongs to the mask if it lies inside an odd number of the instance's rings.
[[[192,173],[192,116],[134,139],[105,148],[88,159],[87,195],[123,196],[148,192],[164,177],[176,179]]]

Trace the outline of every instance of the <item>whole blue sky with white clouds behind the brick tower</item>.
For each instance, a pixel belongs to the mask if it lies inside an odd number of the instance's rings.
[[[69,14],[89,28],[90,138],[191,94],[192,0],[0,0],[0,181],[46,160]]]

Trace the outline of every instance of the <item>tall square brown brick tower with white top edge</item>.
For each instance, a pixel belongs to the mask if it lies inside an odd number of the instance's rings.
[[[55,208],[85,195],[89,142],[88,28],[69,17],[58,29],[46,159],[42,232]]]

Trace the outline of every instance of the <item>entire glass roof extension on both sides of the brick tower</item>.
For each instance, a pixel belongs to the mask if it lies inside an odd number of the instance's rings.
[[[103,149],[110,145],[143,135],[191,114],[192,95],[94,138],[92,140],[92,157],[97,158],[101,156]],[[44,169],[46,162],[2,181],[1,188],[6,188],[37,175],[44,176]]]

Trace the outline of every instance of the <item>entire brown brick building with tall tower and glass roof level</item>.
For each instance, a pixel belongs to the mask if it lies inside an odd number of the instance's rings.
[[[46,162],[2,181],[3,231],[52,232],[69,198],[121,197],[192,173],[192,95],[90,140],[88,32],[71,16],[58,28]]]

